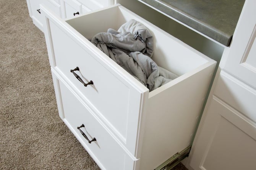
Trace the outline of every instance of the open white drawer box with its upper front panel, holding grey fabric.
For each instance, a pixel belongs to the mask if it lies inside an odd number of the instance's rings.
[[[81,97],[115,140],[154,169],[191,144],[216,62],[121,5],[63,20],[41,6],[50,65]],[[149,92],[89,40],[134,19],[154,37],[152,59],[179,77]],[[84,87],[70,72],[76,74]],[[72,107],[72,106],[70,106]],[[65,119],[64,117],[62,117]],[[139,162],[139,163],[138,163]]]

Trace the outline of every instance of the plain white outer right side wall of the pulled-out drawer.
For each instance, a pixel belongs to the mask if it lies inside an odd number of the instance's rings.
[[[214,68],[209,64],[149,98],[140,169],[154,169],[191,144]]]

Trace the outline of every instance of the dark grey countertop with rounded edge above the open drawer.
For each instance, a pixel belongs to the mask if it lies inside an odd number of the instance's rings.
[[[245,0],[141,0],[229,46]]]

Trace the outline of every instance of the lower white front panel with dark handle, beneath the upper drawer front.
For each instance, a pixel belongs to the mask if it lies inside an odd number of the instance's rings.
[[[131,170],[136,162],[131,158],[112,138],[109,132],[96,120],[86,104],[81,103],[81,99],[74,95],[54,72],[52,72],[56,93],[60,96],[58,107],[62,108],[60,112],[63,121],[70,128],[86,151],[91,155],[102,170]],[[84,132],[89,140],[93,138],[96,141],[89,143],[79,132]]]

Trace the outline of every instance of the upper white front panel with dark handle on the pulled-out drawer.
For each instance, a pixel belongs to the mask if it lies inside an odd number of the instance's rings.
[[[148,90],[142,84],[134,85],[134,82],[139,82],[104,56],[86,38],[82,37],[82,44],[79,43],[81,39],[74,36],[79,33],[65,21],[51,18],[52,16],[52,13],[47,15],[49,19],[46,22],[50,30],[47,32],[49,39],[47,40],[46,36],[46,42],[51,66],[70,83],[76,93],[96,112],[99,119],[135,155],[141,105],[145,102],[144,94],[147,95]],[[109,63],[104,63],[105,58]],[[92,80],[93,85],[84,87],[76,79],[70,72],[76,67],[79,67],[79,71],[75,73],[85,83]]]

